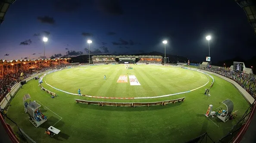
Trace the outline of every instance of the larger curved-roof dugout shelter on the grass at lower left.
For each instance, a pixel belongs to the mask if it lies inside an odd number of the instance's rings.
[[[34,113],[35,113],[35,110],[38,109],[39,107],[41,107],[40,104],[38,104],[36,101],[32,101],[30,103],[28,103],[28,106],[27,106],[27,111],[28,111],[28,115],[29,115],[29,120],[30,122],[35,126],[35,127],[39,127],[39,125],[43,124],[45,121],[47,121],[46,119],[45,120],[41,120],[41,121],[37,121],[35,118],[34,118]]]

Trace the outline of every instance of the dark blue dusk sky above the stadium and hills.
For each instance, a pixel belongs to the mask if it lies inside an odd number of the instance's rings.
[[[164,53],[166,39],[166,53],[202,62],[208,34],[212,62],[256,52],[253,30],[234,0],[17,0],[0,26],[0,59],[37,59],[47,36],[47,58],[87,54],[87,39],[96,54]]]

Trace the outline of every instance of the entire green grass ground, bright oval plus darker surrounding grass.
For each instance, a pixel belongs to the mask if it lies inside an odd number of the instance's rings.
[[[116,83],[119,75],[127,75],[127,72],[129,75],[135,75],[141,86]],[[103,80],[104,74],[107,80]],[[204,85],[208,79],[210,82],[200,89],[185,94],[153,99],[120,100],[69,95],[43,83],[46,89],[58,95],[52,99],[49,94],[40,90],[38,80],[31,80],[12,99],[12,106],[9,107],[7,115],[37,142],[182,143],[206,131],[216,141],[228,133],[249,104],[231,83],[213,77],[215,84],[211,88],[211,96],[208,97],[203,93],[204,89],[209,87],[211,79],[196,71],[181,68],[137,65],[134,69],[128,70],[123,65],[104,65],[65,69],[47,75],[45,77],[47,83],[69,92],[77,93],[77,89],[81,88],[82,94],[88,92],[90,95],[112,97],[165,95],[194,89]],[[96,83],[99,85],[95,85]],[[22,97],[27,93],[31,95],[31,101],[36,100],[42,105],[41,110],[47,116],[47,122],[39,128],[35,128],[29,122],[28,115],[24,113]],[[151,107],[100,107],[76,104],[74,100],[79,98],[94,101],[143,102],[181,97],[186,97],[184,102]],[[225,99],[233,101],[234,110],[237,110],[238,114],[236,119],[224,123],[219,119],[208,119],[204,116],[209,104],[212,104],[213,109],[216,110],[225,107],[224,104],[219,103]],[[10,125],[14,127],[12,123]],[[50,125],[61,130],[53,138],[44,134],[45,129]]]

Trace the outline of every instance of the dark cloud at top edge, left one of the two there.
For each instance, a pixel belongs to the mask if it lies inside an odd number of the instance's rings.
[[[81,0],[54,0],[53,9],[59,12],[75,12],[81,7]]]

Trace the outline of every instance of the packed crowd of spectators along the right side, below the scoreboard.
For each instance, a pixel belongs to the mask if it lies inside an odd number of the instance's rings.
[[[228,77],[231,80],[237,82],[241,87],[243,87],[253,98],[256,98],[256,79],[249,77],[247,74],[242,72],[224,70],[218,68],[203,68],[203,70],[211,71],[216,74]]]

